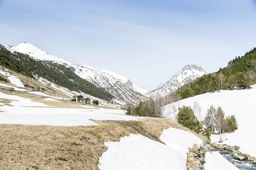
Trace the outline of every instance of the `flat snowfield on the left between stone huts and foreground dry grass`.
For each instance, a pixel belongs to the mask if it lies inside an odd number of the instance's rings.
[[[43,103],[32,102],[30,99],[1,92],[0,98],[17,100],[10,103],[14,107],[6,105],[0,107],[1,111],[4,111],[0,112],[0,124],[86,126],[96,125],[92,120],[143,119],[127,116],[125,111],[117,109],[96,109],[92,108],[93,106],[90,106],[91,109],[49,108]]]

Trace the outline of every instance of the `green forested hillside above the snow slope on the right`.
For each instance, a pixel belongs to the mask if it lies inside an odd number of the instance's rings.
[[[187,84],[185,89],[190,95],[185,98],[219,90],[246,89],[256,83],[256,48],[235,57],[228,62],[227,67]],[[184,91],[185,91],[184,90]],[[184,99],[184,98],[183,98]]]

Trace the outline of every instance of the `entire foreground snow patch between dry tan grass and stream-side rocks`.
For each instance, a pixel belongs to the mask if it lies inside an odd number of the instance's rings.
[[[186,152],[193,144],[203,142],[184,130],[169,128],[153,141],[130,134],[120,142],[105,142],[108,150],[99,159],[100,170],[186,170]]]

